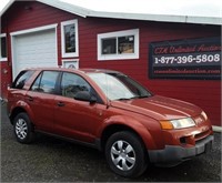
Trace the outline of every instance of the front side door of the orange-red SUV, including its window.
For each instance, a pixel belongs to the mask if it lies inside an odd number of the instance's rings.
[[[75,100],[79,91],[95,94],[91,85],[80,75],[63,72],[61,95],[56,96],[54,128],[58,134],[92,143],[100,123],[103,104]]]

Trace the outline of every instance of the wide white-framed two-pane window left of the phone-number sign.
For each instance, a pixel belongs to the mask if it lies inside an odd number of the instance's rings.
[[[98,60],[139,59],[139,29],[98,34]]]

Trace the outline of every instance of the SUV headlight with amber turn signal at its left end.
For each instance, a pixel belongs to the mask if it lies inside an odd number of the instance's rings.
[[[179,120],[164,120],[160,121],[162,129],[172,130],[172,129],[184,129],[195,125],[195,122],[191,118],[179,119]]]

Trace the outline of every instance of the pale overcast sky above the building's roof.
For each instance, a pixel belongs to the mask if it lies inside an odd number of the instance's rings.
[[[0,0],[0,11],[10,0]],[[53,0],[52,0],[53,1]],[[222,0],[62,0],[97,11],[209,16],[222,18]],[[109,4],[109,6],[108,6]],[[142,6],[141,6],[142,4]]]

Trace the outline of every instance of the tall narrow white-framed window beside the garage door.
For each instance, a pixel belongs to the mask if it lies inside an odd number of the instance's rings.
[[[79,57],[78,21],[61,22],[62,58]]]

